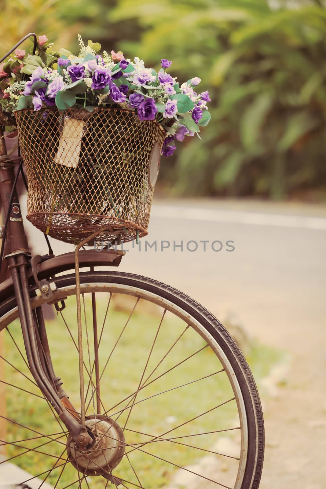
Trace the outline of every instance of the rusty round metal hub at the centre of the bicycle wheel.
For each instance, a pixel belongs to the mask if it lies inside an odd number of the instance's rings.
[[[104,415],[96,415],[96,420],[93,415],[87,416],[86,426],[95,438],[93,444],[81,450],[69,435],[66,444],[68,458],[80,472],[108,478],[125,453],[123,431],[117,422]]]

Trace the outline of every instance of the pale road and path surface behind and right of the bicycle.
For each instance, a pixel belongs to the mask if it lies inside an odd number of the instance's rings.
[[[261,488],[325,488],[326,208],[156,201],[149,231],[147,241],[156,240],[157,251],[145,251],[143,239],[141,251],[131,248],[121,270],[183,290],[222,321],[231,313],[250,335],[290,353],[287,385],[264,401]],[[183,251],[174,251],[181,241]],[[208,242],[206,251],[200,241]],[[214,251],[218,241],[223,247]],[[228,241],[234,251],[227,251]],[[188,242],[198,249],[188,251]]]

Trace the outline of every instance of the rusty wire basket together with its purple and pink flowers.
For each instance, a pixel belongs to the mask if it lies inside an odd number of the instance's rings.
[[[15,116],[31,191],[28,219],[44,232],[78,242],[108,224],[106,241],[147,234],[160,154],[210,120],[198,77],[181,85],[162,59],[156,72],[121,51],[79,36],[78,56],[16,49],[0,65],[2,111]]]

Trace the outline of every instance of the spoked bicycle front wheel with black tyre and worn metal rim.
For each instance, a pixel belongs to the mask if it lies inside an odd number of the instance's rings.
[[[75,276],[55,282],[51,302],[64,300],[65,309],[45,320],[46,332],[78,418]],[[178,290],[130,273],[83,272],[80,291],[85,409],[96,442],[83,453],[31,377],[15,298],[0,305],[7,336],[7,440],[0,448],[4,461],[31,474],[21,483],[257,489],[261,404],[244,357],[217,319]],[[31,290],[33,309],[44,302]]]

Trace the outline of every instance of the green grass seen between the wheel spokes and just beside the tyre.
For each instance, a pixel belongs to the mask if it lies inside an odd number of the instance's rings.
[[[107,302],[108,295],[101,294],[98,306],[99,330],[102,327]],[[128,320],[134,302],[128,303],[129,311],[116,311],[114,308],[111,308],[111,306],[109,308],[106,326],[103,331],[99,349],[100,372],[103,370],[109,353]],[[93,358],[90,297],[86,296],[85,304],[87,310],[86,320],[90,343],[90,356]],[[75,311],[75,299],[69,298],[66,301],[64,315],[69,325],[69,329],[77,342]],[[162,312],[163,310],[160,312],[158,309],[157,312],[152,311],[151,314],[147,314],[144,311],[142,301],[140,301],[122,334],[117,347],[110,357],[109,364],[102,379],[104,383],[101,385],[101,399],[109,416],[112,416],[113,419],[117,418],[119,410],[124,408],[128,403],[128,400],[121,401],[135,392],[138,388],[139,381],[142,377],[152,347],[153,339],[162,318]],[[48,339],[55,372],[62,378],[65,391],[68,393],[76,410],[79,411],[78,353],[60,315],[49,321],[47,325]],[[170,313],[165,315],[152,350],[144,380],[152,373],[160,360],[166,355],[185,327],[186,324],[179,318],[174,317]],[[10,332],[14,335],[17,344],[23,351],[19,322],[16,321],[10,326]],[[89,370],[85,321],[83,339],[84,361]],[[185,359],[187,356],[192,355],[204,345],[205,342],[201,336],[194,332],[192,328],[188,328],[181,336],[181,339],[177,341],[171,352],[157,367],[150,380],[165,373],[174,367],[176,363]],[[5,348],[6,358],[31,378],[22,357],[14,347],[8,334],[6,336]],[[249,362],[256,380],[259,381],[261,377],[268,375],[271,366],[277,362],[279,358],[280,354],[277,351],[265,346],[255,345],[250,353]],[[209,348],[206,348],[141,390],[138,393],[137,401],[146,399],[176,386],[186,384],[195,379],[205,377],[219,371],[221,368],[221,364],[217,357]],[[38,388],[34,386],[32,382],[23,378],[20,373],[15,371],[9,365],[6,366],[5,375],[7,382],[17,385],[22,389],[39,393]],[[85,372],[86,390],[87,378],[88,376]],[[160,436],[163,433],[172,430],[175,426],[191,420],[198,414],[212,409],[232,397],[233,392],[228,382],[228,378],[225,372],[222,372],[134,405],[127,428],[152,436]],[[88,391],[87,399],[89,400],[89,398],[90,392]],[[116,404],[118,405],[113,408]],[[11,420],[15,420],[24,426],[30,426],[32,429],[42,434],[52,435],[61,432],[58,422],[55,420],[46,401],[43,399],[28,395],[13,387],[8,387],[6,405],[7,417]],[[91,414],[92,412],[93,406],[91,403],[87,414]],[[120,415],[118,422],[121,426],[124,425],[127,416],[128,410]],[[233,428],[239,425],[239,421],[236,421],[237,416],[236,403],[235,401],[231,401],[210,413],[199,417],[195,421],[175,429],[170,436],[185,436],[189,434]],[[37,435],[22,426],[8,422],[8,442],[24,440],[33,436]],[[168,437],[169,435],[166,436]],[[225,436],[225,434],[223,434],[223,436]],[[227,433],[227,436],[233,437],[237,441],[239,439],[239,430],[230,431]],[[126,442],[129,444],[149,440],[149,437],[132,431],[125,431],[125,437]],[[217,439],[218,433],[215,433],[211,435],[196,436],[194,438],[179,439],[177,441],[210,449],[214,443],[216,443]],[[65,436],[62,436],[59,441],[65,444]],[[40,440],[22,442],[20,445],[26,448],[35,448],[37,445],[46,442],[50,442],[50,440],[41,438]],[[195,463],[196,460],[207,455],[207,452],[168,442],[152,443],[144,446],[142,449],[150,452],[154,456],[172,461],[174,464],[181,467]],[[38,450],[58,457],[62,456],[63,460],[60,464],[63,464],[65,461],[65,445],[63,444],[50,442],[38,448]],[[23,451],[23,448],[17,446],[8,445],[7,447],[8,457],[19,455]],[[144,488],[147,489],[165,486],[176,470],[176,467],[166,464],[154,456],[149,456],[139,450],[134,450],[132,454],[130,454],[130,461],[133,467],[136,468],[137,475]],[[20,467],[35,475],[41,474],[43,471],[51,468],[55,461],[55,458],[51,459],[46,455],[36,452],[29,452],[25,455],[22,454],[13,460],[14,463],[17,463]],[[62,467],[57,467],[53,470],[46,479],[46,482],[54,485],[61,469]],[[128,481],[138,484],[126,457],[124,457],[114,473],[118,477],[123,477]],[[44,478],[45,475],[46,474],[41,476],[41,478]],[[76,479],[78,479],[76,470],[70,465],[67,465],[57,488],[63,489]],[[88,478],[88,480],[91,489],[105,487],[105,480],[102,477],[92,477],[91,479]],[[75,488],[77,486],[78,484],[71,487]]]

